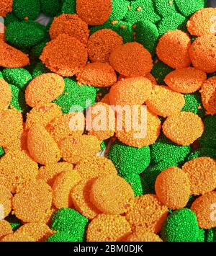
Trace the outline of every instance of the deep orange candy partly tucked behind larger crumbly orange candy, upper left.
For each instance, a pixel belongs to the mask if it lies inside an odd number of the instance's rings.
[[[77,14],[61,14],[53,19],[50,27],[51,40],[60,34],[71,35],[81,43],[86,44],[89,37],[89,28],[86,22],[81,20]]]

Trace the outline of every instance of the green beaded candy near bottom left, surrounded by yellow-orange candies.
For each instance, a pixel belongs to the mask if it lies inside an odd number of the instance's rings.
[[[71,234],[78,242],[84,241],[89,220],[71,208],[60,208],[51,218],[50,227],[55,231]]]

